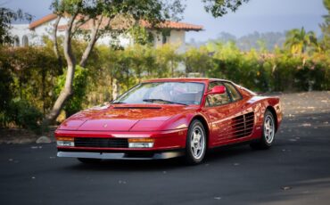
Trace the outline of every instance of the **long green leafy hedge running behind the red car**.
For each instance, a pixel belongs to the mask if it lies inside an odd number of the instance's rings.
[[[74,52],[83,52],[74,42]],[[115,95],[148,78],[227,78],[259,92],[330,90],[330,59],[326,52],[292,54],[241,52],[233,43],[188,48],[136,45],[125,50],[97,46],[87,68],[76,70],[75,94],[64,107],[67,116],[91,105],[111,101]],[[65,63],[63,64],[65,67]],[[45,47],[0,47],[0,126],[38,131],[64,84],[65,68],[54,58],[52,44]]]

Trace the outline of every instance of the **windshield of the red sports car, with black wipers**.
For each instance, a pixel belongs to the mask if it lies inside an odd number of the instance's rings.
[[[112,103],[200,104],[204,84],[193,82],[142,83]]]

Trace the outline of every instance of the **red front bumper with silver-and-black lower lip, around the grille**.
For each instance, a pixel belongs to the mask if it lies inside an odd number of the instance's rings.
[[[56,130],[56,138],[74,138],[73,145],[57,145],[58,157],[92,158],[92,159],[112,159],[112,160],[157,160],[169,159],[181,156],[186,148],[187,129],[177,129],[158,132],[100,132],[100,131],[70,131]],[[133,138],[151,138],[153,147],[150,148],[130,148],[123,142]],[[103,143],[78,143],[78,139],[98,139]],[[115,140],[118,143],[111,143],[107,140]],[[106,142],[104,145],[104,141]],[[88,141],[89,142],[89,141]],[[111,144],[111,145],[108,145]],[[93,145],[93,146],[92,146]],[[100,146],[99,146],[100,145]]]

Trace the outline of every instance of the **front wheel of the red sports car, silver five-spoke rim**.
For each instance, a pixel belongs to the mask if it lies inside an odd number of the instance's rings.
[[[206,144],[205,128],[200,120],[194,119],[186,135],[186,163],[189,165],[201,163],[207,149]]]

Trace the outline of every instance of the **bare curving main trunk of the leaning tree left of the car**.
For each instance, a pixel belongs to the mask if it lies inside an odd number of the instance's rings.
[[[52,111],[45,117],[44,126],[53,122],[60,114],[64,103],[69,99],[70,95],[73,94],[72,91],[72,83],[74,78],[74,72],[76,69],[76,59],[72,53],[71,48],[71,29],[74,20],[76,19],[76,15],[72,15],[70,17],[70,21],[68,22],[68,28],[65,31],[65,37],[63,42],[64,56],[68,64],[67,75],[65,78],[65,85],[61,91],[61,94],[58,96]]]

